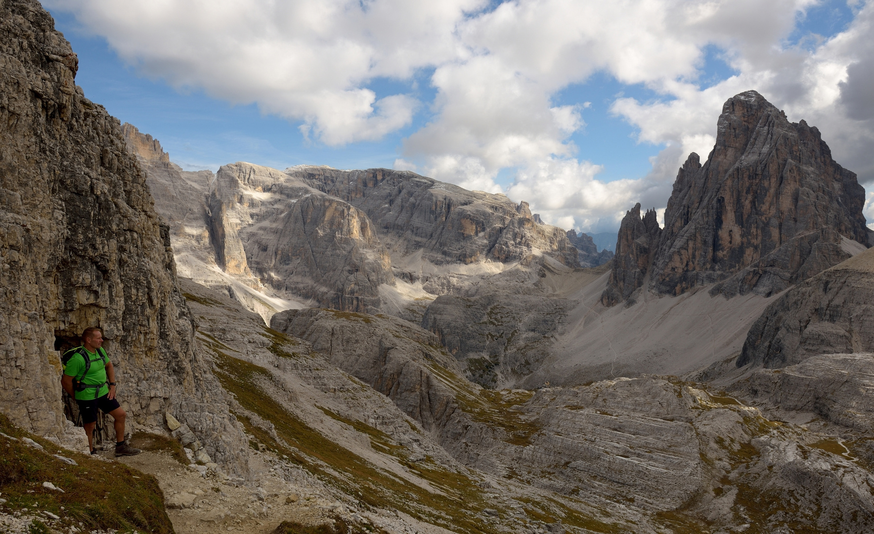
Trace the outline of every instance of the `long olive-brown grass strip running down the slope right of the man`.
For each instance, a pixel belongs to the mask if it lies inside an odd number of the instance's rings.
[[[440,468],[436,463],[415,464],[417,475],[447,493],[440,495],[377,468],[349,449],[329,440],[315,428],[309,427],[272,399],[258,385],[260,381],[270,378],[267,370],[220,351],[215,351],[215,354],[218,367],[216,375],[225,390],[231,392],[246,410],[258,413],[260,417],[273,423],[277,435],[288,443],[286,446],[273,440],[267,432],[253,426],[245,418],[239,418],[246,427],[246,432],[252,433],[265,446],[273,447],[279,454],[292,458],[296,456],[311,473],[347,495],[360,492],[362,496],[359,499],[364,506],[402,510],[410,516],[456,532],[495,532],[488,525],[482,524],[477,517],[478,512],[487,506],[482,502],[482,490],[472,479]],[[399,447],[387,434],[376,428],[348,420],[326,409],[323,411],[329,417],[341,420],[357,430],[360,428],[360,431],[371,436],[371,443],[376,442],[383,447]],[[391,450],[394,455],[402,455],[399,449]]]

